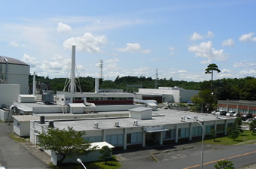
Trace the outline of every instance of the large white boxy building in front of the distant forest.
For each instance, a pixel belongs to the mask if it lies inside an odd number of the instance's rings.
[[[135,98],[143,100],[156,100],[158,103],[175,102],[187,103],[199,90],[186,90],[180,87],[159,87],[158,89],[139,89]]]

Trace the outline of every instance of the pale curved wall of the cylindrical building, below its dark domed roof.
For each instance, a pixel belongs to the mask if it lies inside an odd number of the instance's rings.
[[[8,84],[20,84],[20,94],[29,93],[29,70],[26,65],[8,64]],[[1,72],[0,72],[1,73]],[[5,64],[2,64],[2,73],[5,74]]]

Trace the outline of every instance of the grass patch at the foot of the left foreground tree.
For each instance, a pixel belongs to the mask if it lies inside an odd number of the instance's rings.
[[[105,164],[105,161],[98,161],[98,162],[89,162],[84,163],[87,169],[117,169],[122,167],[119,161],[113,156],[111,159],[108,160],[108,163]],[[63,166],[55,166],[50,165],[53,169],[84,169],[81,164],[64,164]]]

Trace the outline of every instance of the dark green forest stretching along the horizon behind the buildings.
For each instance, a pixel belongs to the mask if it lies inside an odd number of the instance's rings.
[[[32,86],[32,75],[29,75],[29,86]],[[48,90],[62,91],[66,78],[53,78],[49,77],[35,77],[37,83],[44,83]],[[79,77],[81,83],[82,92],[94,92],[94,78],[93,77]],[[133,89],[126,88],[126,85],[139,85],[142,88],[154,89],[155,81],[151,77],[116,77],[115,80],[99,80],[100,89],[123,89],[124,92],[133,92]],[[157,86],[173,87],[179,86],[184,89],[195,90],[210,90],[211,80],[205,80],[203,82],[193,82],[184,80],[172,80],[159,79],[157,80]],[[138,92],[137,87],[135,92]],[[256,78],[224,78],[212,81],[212,92],[215,95],[215,100],[226,99],[242,99],[242,100],[256,100]]]

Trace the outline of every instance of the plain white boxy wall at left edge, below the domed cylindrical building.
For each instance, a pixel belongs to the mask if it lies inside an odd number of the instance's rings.
[[[0,107],[2,107],[2,104],[10,106],[14,101],[18,101],[19,94],[20,85],[0,84]]]

